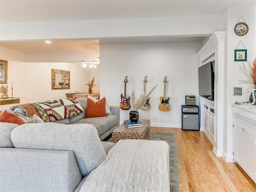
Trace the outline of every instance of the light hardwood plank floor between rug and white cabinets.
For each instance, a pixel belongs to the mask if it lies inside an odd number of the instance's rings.
[[[151,131],[175,133],[180,192],[256,192],[256,184],[237,163],[214,155],[204,132],[162,127]]]

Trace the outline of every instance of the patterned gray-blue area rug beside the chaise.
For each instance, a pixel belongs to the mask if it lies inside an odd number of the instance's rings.
[[[174,133],[150,132],[150,140],[166,141],[170,146],[170,192],[179,192],[179,172],[176,140]],[[106,138],[111,142],[112,138]]]

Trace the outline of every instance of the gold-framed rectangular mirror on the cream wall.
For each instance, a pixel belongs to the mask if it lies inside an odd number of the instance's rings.
[[[70,71],[52,69],[52,89],[70,89]]]

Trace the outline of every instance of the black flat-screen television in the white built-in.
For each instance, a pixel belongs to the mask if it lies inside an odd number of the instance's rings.
[[[214,100],[214,70],[213,62],[208,62],[198,68],[199,95]]]

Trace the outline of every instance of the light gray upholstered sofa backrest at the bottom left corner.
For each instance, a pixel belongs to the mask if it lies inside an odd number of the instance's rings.
[[[74,191],[82,176],[72,151],[0,148],[1,191]]]

